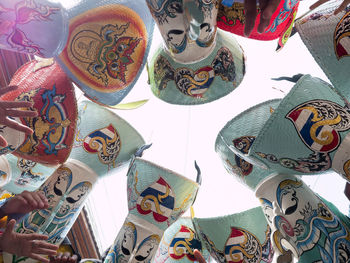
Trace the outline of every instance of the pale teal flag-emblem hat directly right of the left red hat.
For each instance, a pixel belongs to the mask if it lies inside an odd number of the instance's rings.
[[[96,103],[79,103],[77,131],[70,159],[86,163],[99,176],[127,164],[145,144],[124,119]]]

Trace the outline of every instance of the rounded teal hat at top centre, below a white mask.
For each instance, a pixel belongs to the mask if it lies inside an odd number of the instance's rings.
[[[238,87],[245,74],[245,58],[236,39],[218,30],[215,48],[198,62],[179,63],[161,45],[149,61],[148,74],[152,92],[161,100],[203,104]]]

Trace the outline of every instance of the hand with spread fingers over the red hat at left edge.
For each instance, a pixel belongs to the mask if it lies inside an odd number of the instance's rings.
[[[5,88],[0,88],[0,97],[7,92],[17,89],[16,86],[8,86]],[[33,130],[9,117],[35,117],[38,115],[36,111],[31,110],[21,110],[18,108],[28,108],[33,106],[31,102],[28,101],[0,101],[0,124],[6,125],[12,129],[22,131],[27,134],[33,133]],[[0,135],[0,146],[6,147],[7,142],[4,137]]]

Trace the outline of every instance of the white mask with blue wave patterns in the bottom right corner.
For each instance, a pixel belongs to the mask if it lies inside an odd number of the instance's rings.
[[[257,186],[255,194],[279,252],[290,250],[303,262],[349,260],[350,221],[335,215],[298,176],[273,175]]]

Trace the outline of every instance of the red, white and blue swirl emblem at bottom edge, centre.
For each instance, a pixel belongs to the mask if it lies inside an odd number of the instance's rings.
[[[194,231],[184,225],[181,225],[179,232],[174,236],[169,245],[168,253],[171,258],[181,260],[187,257],[190,261],[195,261],[193,250],[202,250],[200,241],[195,237]]]

